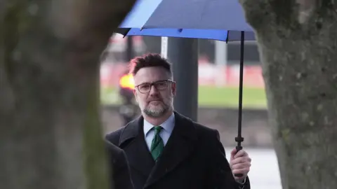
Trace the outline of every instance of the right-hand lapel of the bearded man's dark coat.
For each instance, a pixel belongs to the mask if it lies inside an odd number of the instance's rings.
[[[197,132],[194,123],[189,118],[175,112],[175,127],[163,153],[152,169],[145,187],[152,185],[175,169],[194,150]]]

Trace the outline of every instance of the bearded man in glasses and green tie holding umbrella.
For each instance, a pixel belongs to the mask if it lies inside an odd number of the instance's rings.
[[[217,130],[173,110],[176,83],[166,59],[136,57],[131,73],[142,116],[106,139],[126,152],[136,189],[250,188],[247,153],[233,150],[229,164]]]

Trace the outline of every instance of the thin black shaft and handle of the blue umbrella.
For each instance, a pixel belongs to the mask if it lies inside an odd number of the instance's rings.
[[[244,31],[241,31],[241,52],[240,52],[240,78],[239,78],[239,116],[238,116],[238,125],[237,125],[237,153],[242,150],[241,143],[244,141],[244,138],[241,136],[242,132],[242,90],[244,83]],[[234,174],[234,176],[242,177],[242,174]]]

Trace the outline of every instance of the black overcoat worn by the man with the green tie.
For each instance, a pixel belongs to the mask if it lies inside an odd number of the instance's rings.
[[[175,112],[175,127],[161,157],[154,162],[148,150],[143,117],[107,134],[124,149],[136,189],[237,189],[219,133]],[[247,178],[244,189],[249,189]]]

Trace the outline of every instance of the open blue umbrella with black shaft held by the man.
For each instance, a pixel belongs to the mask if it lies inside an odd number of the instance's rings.
[[[117,32],[124,36],[240,40],[239,118],[235,141],[237,151],[242,149],[244,41],[255,40],[255,35],[238,0],[138,0]]]

